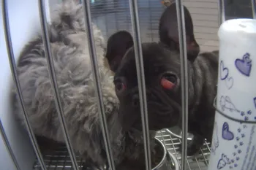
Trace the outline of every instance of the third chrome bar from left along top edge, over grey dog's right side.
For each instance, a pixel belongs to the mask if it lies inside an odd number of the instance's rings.
[[[99,77],[99,69],[97,68],[98,61],[97,61],[97,53],[95,50],[95,44],[94,44],[94,34],[91,28],[91,10],[90,10],[91,4],[89,0],[84,0],[82,4],[83,4],[85,26],[86,26],[86,34],[87,34],[88,45],[89,45],[89,53],[91,58],[91,69],[94,77],[97,103],[98,103],[99,113],[101,117],[102,132],[103,132],[102,135],[105,143],[105,152],[108,158],[108,166],[110,167],[110,170],[115,170],[115,163],[113,161],[113,154],[110,146],[110,138],[108,133],[108,124],[105,116],[104,102],[102,98],[102,86],[101,86],[101,81]]]

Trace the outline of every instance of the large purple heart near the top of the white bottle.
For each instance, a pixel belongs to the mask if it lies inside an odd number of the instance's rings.
[[[250,59],[249,53],[245,53],[242,59],[237,58],[235,61],[235,66],[241,74],[249,77],[252,70],[252,60]]]

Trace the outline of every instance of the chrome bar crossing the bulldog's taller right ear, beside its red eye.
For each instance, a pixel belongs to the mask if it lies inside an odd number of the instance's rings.
[[[187,40],[184,19],[184,6],[181,0],[176,1],[177,20],[178,20],[178,39],[181,58],[181,106],[182,106],[182,156],[181,156],[181,169],[186,168],[187,160],[187,131],[188,131],[188,71],[187,71]]]

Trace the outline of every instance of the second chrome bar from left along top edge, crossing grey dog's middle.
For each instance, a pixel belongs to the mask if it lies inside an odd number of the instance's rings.
[[[75,152],[72,148],[72,143],[69,139],[69,134],[67,133],[67,124],[64,119],[64,111],[61,106],[61,97],[59,96],[59,87],[56,80],[56,72],[54,69],[54,63],[53,58],[51,56],[51,50],[50,50],[50,39],[48,34],[48,23],[46,19],[46,12],[45,12],[45,1],[44,0],[38,0],[38,7],[39,7],[39,15],[40,15],[40,22],[41,22],[41,28],[42,28],[42,41],[45,46],[45,58],[48,63],[48,70],[49,70],[49,76],[50,76],[50,82],[51,86],[53,88],[53,94],[54,94],[54,101],[56,104],[56,110],[57,114],[59,116],[59,120],[61,123],[61,128],[64,133],[64,139],[67,144],[67,150],[69,151],[69,155],[72,161],[73,169],[78,170],[78,163],[75,158]]]

